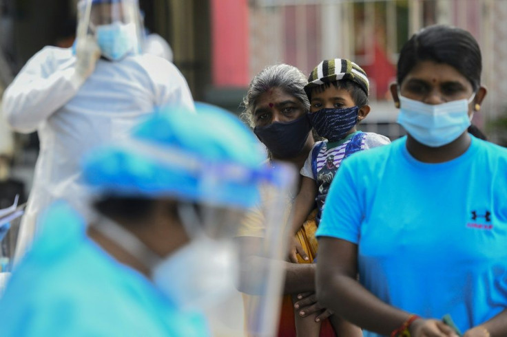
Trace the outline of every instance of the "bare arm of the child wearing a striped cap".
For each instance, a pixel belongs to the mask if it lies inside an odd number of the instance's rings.
[[[315,180],[309,177],[303,177],[301,182],[301,189],[296,197],[293,206],[293,217],[291,230],[294,235],[303,226],[304,221],[315,206],[315,197],[317,197],[317,184]]]

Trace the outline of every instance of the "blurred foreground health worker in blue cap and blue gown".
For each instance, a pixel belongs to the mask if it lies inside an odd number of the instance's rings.
[[[272,336],[262,315],[278,307],[270,298],[282,277],[263,265],[252,270],[259,279],[241,279],[234,245],[261,186],[274,192],[292,176],[265,171],[261,159],[254,135],[208,106],[158,113],[131,138],[87,155],[96,221],[86,224],[64,202],[49,208],[0,301],[1,335],[192,337],[211,336],[211,325],[216,336],[241,336],[244,327],[233,332],[230,323],[247,316],[251,336]],[[283,245],[276,220],[271,237]],[[229,303],[240,288],[258,305],[236,311]],[[209,323],[203,310],[214,313]]]

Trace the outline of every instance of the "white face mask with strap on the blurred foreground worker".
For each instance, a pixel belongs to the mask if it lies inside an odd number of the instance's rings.
[[[152,281],[181,309],[202,311],[227,298],[239,280],[239,257],[230,240],[198,235],[167,257],[158,257],[136,236],[103,217],[95,227],[152,270]]]

